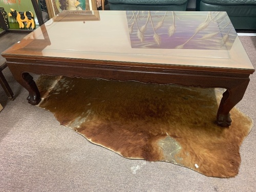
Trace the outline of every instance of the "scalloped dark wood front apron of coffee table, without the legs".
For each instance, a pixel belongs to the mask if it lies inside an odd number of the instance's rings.
[[[6,55],[3,56],[6,57]],[[66,75],[83,78],[96,77],[107,80],[137,80],[159,84],[175,83],[183,86],[202,88],[222,87],[228,89],[232,87],[233,84],[237,84],[236,81],[239,81],[239,79],[248,79],[250,74],[243,73],[243,70],[241,70],[240,73],[232,73],[215,68],[208,68],[207,71],[205,68],[198,69],[197,67],[187,67],[182,69],[181,66],[161,65],[155,67],[143,65],[143,63],[141,66],[124,65],[124,63],[122,63],[122,65],[107,65],[106,63],[109,61],[93,63],[92,61],[94,60],[91,60],[91,62],[88,60],[81,62],[81,60],[76,59],[73,61],[72,59],[70,59],[71,61],[64,61],[65,59],[62,58],[59,58],[59,61],[55,62],[53,60],[39,60],[38,58],[30,60],[6,57],[6,59],[8,65],[19,66],[18,68],[23,69],[24,72],[36,74]],[[236,70],[239,72],[238,69]]]

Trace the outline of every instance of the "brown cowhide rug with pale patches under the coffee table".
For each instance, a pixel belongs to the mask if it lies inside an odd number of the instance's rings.
[[[239,172],[239,148],[253,123],[234,108],[231,126],[216,125],[224,89],[64,76],[40,76],[37,85],[40,108],[125,158],[171,162],[220,178]]]

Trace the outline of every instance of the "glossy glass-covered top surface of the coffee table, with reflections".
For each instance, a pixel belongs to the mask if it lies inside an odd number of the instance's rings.
[[[226,12],[62,11],[4,54],[253,69]]]

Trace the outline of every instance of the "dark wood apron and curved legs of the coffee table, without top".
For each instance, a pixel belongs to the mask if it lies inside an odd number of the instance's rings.
[[[102,78],[107,80],[135,80],[145,83],[174,83],[188,87],[227,89],[217,112],[217,124],[231,124],[230,110],[243,98],[254,70],[149,65],[149,63],[106,60],[71,59],[57,57],[5,55],[14,78],[29,92],[31,104],[38,104],[40,93],[29,73],[65,75],[69,77]]]

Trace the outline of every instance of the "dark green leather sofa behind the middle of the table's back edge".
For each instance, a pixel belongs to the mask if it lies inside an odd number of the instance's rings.
[[[188,0],[108,0],[110,10],[186,11]]]

